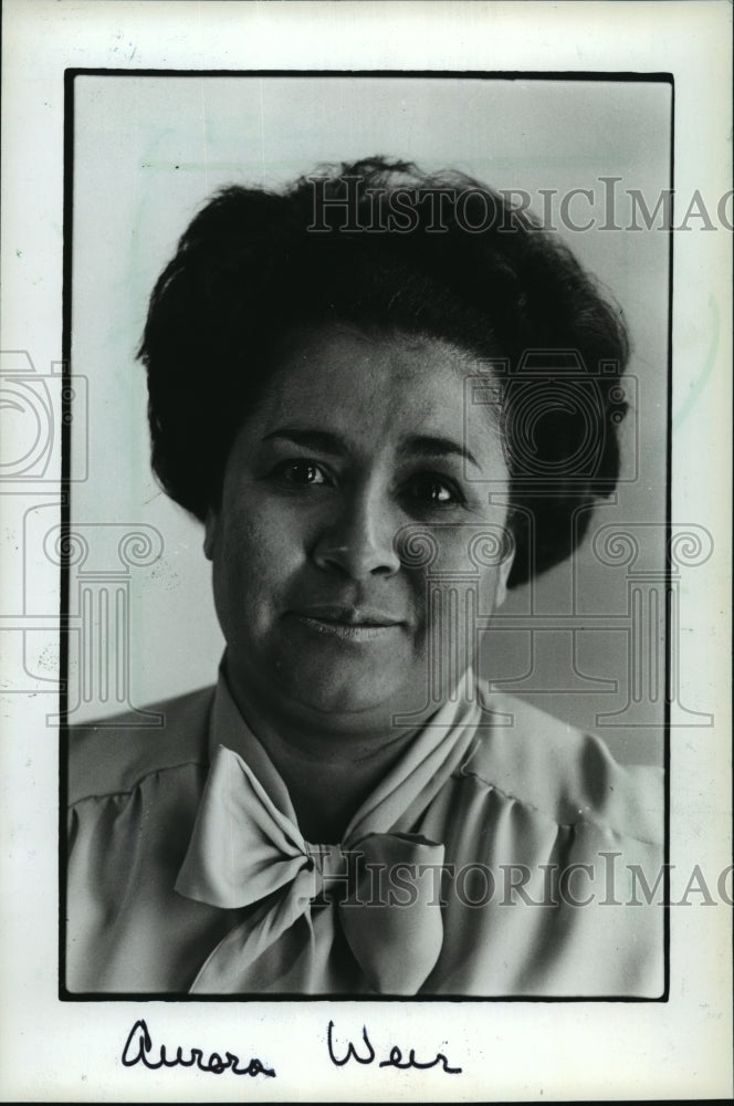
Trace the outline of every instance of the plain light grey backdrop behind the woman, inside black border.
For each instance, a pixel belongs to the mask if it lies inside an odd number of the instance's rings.
[[[593,208],[581,200],[573,216],[604,222],[600,178],[619,177],[616,215],[626,227],[626,189],[639,189],[654,207],[670,185],[670,111],[669,86],[642,82],[75,79],[72,373],[88,380],[88,414],[86,432],[72,436],[72,465],[78,470],[86,452],[90,474],[73,484],[71,523],[143,523],[155,526],[164,543],[154,564],[129,573],[130,703],[143,707],[212,682],[223,645],[201,526],[167,500],[149,472],[145,374],[135,361],[153,284],[206,199],[228,184],[277,188],[322,161],[385,154],[426,170],[461,169],[494,188],[525,189],[538,215],[539,190],[555,189],[558,225],[559,197],[572,188],[594,194]],[[633,344],[628,373],[638,398],[625,426],[623,479],[596,525],[652,523],[644,560],[662,571],[668,234],[559,232],[621,304]],[[636,721],[642,718],[643,727],[599,724],[599,714],[619,710],[626,699],[628,602],[626,570],[600,564],[587,542],[573,565],[542,577],[532,595],[528,588],[513,593],[503,616],[533,609],[553,620],[575,612],[579,629],[584,615],[606,615],[608,628],[597,619],[596,628],[577,634],[572,653],[563,629],[529,634],[503,630],[500,623],[484,645],[483,670],[497,686],[601,733],[620,760],[659,762],[659,697],[641,702]],[[660,629],[648,626],[646,634],[659,639]],[[96,638],[93,648],[113,644]],[[127,651],[124,644],[120,649]],[[72,650],[70,709],[77,675]],[[95,687],[71,720],[123,707]]]

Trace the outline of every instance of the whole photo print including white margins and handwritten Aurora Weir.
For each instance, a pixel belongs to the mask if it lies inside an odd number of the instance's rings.
[[[604,1039],[672,1040],[732,905],[732,197],[688,79],[605,62],[609,4],[558,6],[574,65],[518,45],[538,4],[92,7],[54,324],[2,348],[35,973],[70,1040],[99,1014],[82,1094],[281,1100],[291,1040],[344,1100],[654,1097]]]

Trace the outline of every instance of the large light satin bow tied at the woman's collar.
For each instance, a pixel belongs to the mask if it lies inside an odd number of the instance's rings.
[[[239,972],[325,902],[370,989],[415,994],[443,942],[443,845],[418,834],[364,826],[339,845],[311,844],[239,753],[219,745],[176,889],[227,909],[253,906],[252,928],[232,942]]]

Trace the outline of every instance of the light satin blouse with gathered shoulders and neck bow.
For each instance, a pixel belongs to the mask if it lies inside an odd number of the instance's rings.
[[[661,994],[659,771],[472,682],[319,845],[222,676],[157,709],[71,734],[71,992]]]

